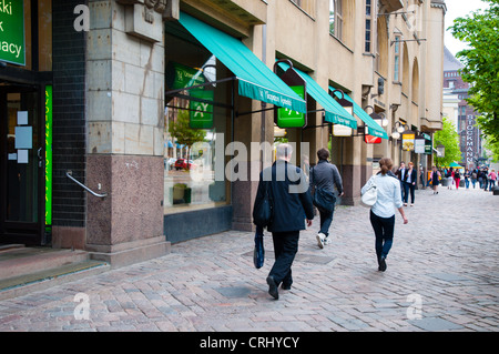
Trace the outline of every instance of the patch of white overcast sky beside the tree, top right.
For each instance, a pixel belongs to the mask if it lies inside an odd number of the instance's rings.
[[[458,51],[466,48],[466,44],[455,39],[447,29],[452,26],[456,18],[465,17],[475,10],[487,9],[488,3],[481,0],[446,0],[446,36],[444,41],[447,49],[456,55]]]

